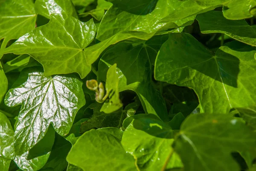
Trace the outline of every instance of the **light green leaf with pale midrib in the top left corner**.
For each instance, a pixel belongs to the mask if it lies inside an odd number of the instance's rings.
[[[1,49],[4,49],[10,40],[34,29],[35,20],[32,0],[5,0],[0,3],[0,40],[4,38]]]

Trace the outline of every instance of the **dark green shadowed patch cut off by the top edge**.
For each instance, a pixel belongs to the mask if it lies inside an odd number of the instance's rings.
[[[120,0],[107,1],[113,3],[114,7],[122,9],[125,12],[136,15],[146,15],[155,9],[158,0],[129,0],[127,2]]]

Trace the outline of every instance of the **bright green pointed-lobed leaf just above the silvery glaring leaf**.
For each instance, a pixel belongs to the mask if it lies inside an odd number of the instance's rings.
[[[0,53],[29,54],[44,67],[44,75],[77,72],[84,78],[91,70],[83,49],[94,38],[93,20],[82,23],[67,14],[51,14],[48,24],[20,37]]]

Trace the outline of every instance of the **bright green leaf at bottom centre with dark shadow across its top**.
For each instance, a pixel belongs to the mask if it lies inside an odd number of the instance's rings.
[[[172,151],[173,140],[172,128],[168,125],[157,119],[140,118],[125,129],[122,145],[134,156],[140,171],[160,171]],[[167,165],[167,168],[175,167],[182,167],[177,154],[172,155]]]

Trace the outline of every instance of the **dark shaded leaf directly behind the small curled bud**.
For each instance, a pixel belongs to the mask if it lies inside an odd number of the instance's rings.
[[[104,81],[108,67],[117,64],[119,91],[133,90],[139,96],[145,113],[153,113],[167,120],[163,97],[154,89],[151,81],[151,64],[147,51],[150,48],[147,42],[138,46],[131,43],[117,44],[99,61],[98,79]]]

